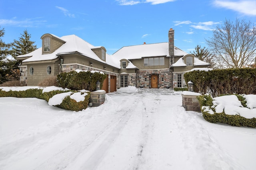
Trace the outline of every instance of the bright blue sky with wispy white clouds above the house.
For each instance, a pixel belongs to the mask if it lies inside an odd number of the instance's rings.
[[[6,43],[25,29],[37,47],[40,37],[75,34],[113,54],[124,46],[168,42],[189,53],[223,21],[251,21],[256,25],[256,0],[0,0],[0,29]]]

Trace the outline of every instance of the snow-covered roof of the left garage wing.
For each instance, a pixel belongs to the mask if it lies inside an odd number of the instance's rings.
[[[58,37],[59,38],[59,37]],[[60,37],[59,39],[62,39],[63,41],[66,41],[61,47],[56,49],[53,53],[50,54],[42,54],[42,47],[39,49],[36,49],[32,53],[28,53],[26,55],[20,55],[17,58],[22,58],[22,57],[30,57],[28,59],[25,59],[23,63],[25,62],[30,62],[30,61],[46,61],[46,60],[54,60],[58,58],[58,55],[62,54],[70,54],[70,53],[80,53],[81,55],[84,55],[86,57],[90,57],[91,59],[94,59],[96,61],[99,61],[104,64],[108,64],[114,67],[117,67],[120,64],[116,64],[115,62],[112,61],[112,59],[108,59],[110,55],[106,54],[106,62],[102,61],[93,51],[92,49],[99,48],[99,47],[94,47],[90,43],[84,41],[80,37],[76,35],[66,35],[63,37]]]

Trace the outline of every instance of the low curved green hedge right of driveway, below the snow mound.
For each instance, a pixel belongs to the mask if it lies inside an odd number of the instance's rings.
[[[236,96],[238,97],[238,100],[240,100],[241,104],[246,107],[246,100],[244,99],[244,97],[242,97],[241,95]],[[214,107],[212,107],[213,99],[210,95],[206,94],[202,96],[197,96],[197,99],[201,106],[201,111],[204,119],[210,123],[226,123],[232,126],[256,127],[256,118],[247,119],[240,115],[226,115],[224,111],[222,113],[216,113]],[[214,114],[208,113],[208,111],[202,109],[202,106],[209,106],[214,111]]]

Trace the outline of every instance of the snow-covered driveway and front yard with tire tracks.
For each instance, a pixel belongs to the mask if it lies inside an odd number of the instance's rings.
[[[256,129],[185,111],[181,92],[122,88],[73,112],[0,98],[2,170],[254,170]]]

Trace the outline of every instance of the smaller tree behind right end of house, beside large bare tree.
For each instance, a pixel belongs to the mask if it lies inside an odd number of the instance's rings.
[[[191,53],[191,51],[190,51]],[[193,53],[196,58],[198,58],[201,61],[207,62],[211,64],[211,68],[215,67],[215,63],[214,63],[214,55],[212,53],[210,53],[208,51],[208,49],[206,47],[202,48],[201,45],[197,45],[195,47],[195,51],[193,51]]]

